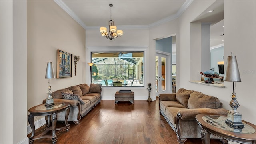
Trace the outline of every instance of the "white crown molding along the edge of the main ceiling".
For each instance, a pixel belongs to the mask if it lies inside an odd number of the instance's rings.
[[[100,26],[86,26],[78,16],[66,5],[62,0],[54,0],[65,12],[67,12],[78,24],[80,24],[85,30],[86,29],[99,29]],[[121,29],[148,29],[152,28],[154,26],[158,26],[160,24],[164,24],[166,22],[170,22],[172,20],[175,20],[176,18],[180,17],[181,14],[188,8],[188,6],[193,2],[193,0],[186,0],[184,4],[180,7],[178,12],[176,14],[173,14],[171,16],[168,16],[167,18],[163,18],[162,20],[158,20],[157,22],[153,22],[149,25],[127,25],[127,26],[118,26],[118,28]]]

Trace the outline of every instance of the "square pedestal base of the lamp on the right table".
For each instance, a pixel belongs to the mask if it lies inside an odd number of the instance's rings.
[[[228,119],[226,119],[225,123],[231,128],[235,128],[235,129],[244,128],[244,124],[242,123],[242,114],[234,114],[228,111]]]

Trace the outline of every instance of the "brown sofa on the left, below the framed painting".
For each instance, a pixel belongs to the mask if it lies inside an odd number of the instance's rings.
[[[81,118],[100,102],[101,92],[101,84],[90,84],[90,86],[88,86],[88,84],[79,84],[56,90],[52,92],[52,97],[54,98],[54,102],[69,102],[70,113],[68,115],[68,121],[73,121],[75,124],[79,124]],[[82,99],[84,104],[82,104],[79,100],[64,99],[62,93],[70,95],[77,94]],[[43,103],[45,103],[45,100]],[[65,120],[65,111],[57,114],[57,120]]]

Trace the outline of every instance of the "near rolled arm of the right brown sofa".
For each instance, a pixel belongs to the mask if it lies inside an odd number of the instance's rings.
[[[195,120],[197,114],[201,113],[210,113],[210,114],[222,114],[227,115],[227,111],[224,108],[195,108],[195,109],[186,109],[179,110],[177,112],[176,122],[178,120]],[[176,123],[177,124],[177,123]]]

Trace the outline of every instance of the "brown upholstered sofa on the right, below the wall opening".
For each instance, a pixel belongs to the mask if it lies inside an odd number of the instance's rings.
[[[176,132],[178,142],[187,138],[201,138],[201,128],[195,117],[200,113],[226,115],[220,100],[194,90],[179,89],[173,94],[159,94],[160,114]],[[211,138],[219,138],[211,135]]]

